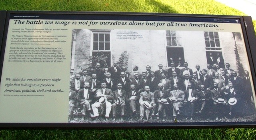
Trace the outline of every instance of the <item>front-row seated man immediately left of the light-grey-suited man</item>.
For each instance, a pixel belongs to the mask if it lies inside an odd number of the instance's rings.
[[[130,91],[126,94],[126,103],[129,103],[130,109],[132,111],[132,116],[136,114],[136,106],[139,105],[140,93],[135,91],[135,85],[130,85]]]

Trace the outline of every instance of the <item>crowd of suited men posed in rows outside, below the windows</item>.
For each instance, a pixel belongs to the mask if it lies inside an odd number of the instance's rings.
[[[179,69],[171,62],[171,68],[167,70],[159,64],[159,69],[152,71],[147,65],[142,73],[138,71],[138,66],[134,66],[129,73],[126,67],[118,67],[116,61],[107,72],[100,69],[100,63],[97,63],[91,75],[85,69],[82,76],[76,74],[75,79],[70,81],[69,115],[72,116],[77,105],[82,106],[82,119],[86,114],[97,118],[98,108],[103,108],[107,120],[110,112],[115,120],[116,112],[120,110],[123,120],[125,111],[133,118],[139,109],[140,120],[161,118],[165,121],[166,108],[172,107],[176,119],[183,106],[185,116],[193,119],[197,105],[202,116],[207,116],[211,107],[217,120],[225,115],[241,114],[246,103],[250,105],[249,111],[255,113],[248,71],[245,71],[244,77],[238,77],[229,63],[226,63],[226,69],[220,68],[218,63],[208,64],[207,69],[202,70],[196,65],[194,72],[188,68],[187,62],[182,66]],[[229,103],[231,99],[232,103]]]

